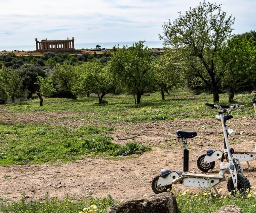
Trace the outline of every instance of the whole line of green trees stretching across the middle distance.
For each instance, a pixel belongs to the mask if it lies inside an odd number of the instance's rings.
[[[213,102],[227,92],[232,103],[237,91],[256,90],[256,32],[232,35],[234,21],[221,5],[203,1],[164,23],[163,55],[139,41],[131,47],[114,46],[111,54],[101,56],[0,56],[0,101],[37,94],[42,105],[43,96],[95,93],[102,104],[108,93],[127,92],[140,104],[145,92],[160,90],[164,99],[170,90],[187,86],[212,92]]]

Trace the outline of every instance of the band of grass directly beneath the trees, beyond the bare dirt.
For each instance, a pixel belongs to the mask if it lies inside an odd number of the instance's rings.
[[[236,95],[236,102],[244,104],[244,109],[233,111],[235,116],[254,114],[251,104],[252,95],[241,93]],[[78,100],[48,98],[44,106],[39,107],[39,101],[31,100],[21,103],[0,106],[10,113],[30,112],[72,112],[72,117],[63,116],[62,119],[98,121],[113,123],[119,121],[161,121],[180,118],[201,118],[216,114],[215,109],[204,106],[205,102],[212,103],[212,95],[194,95],[190,90],[178,90],[166,100],[161,100],[159,92],[150,96],[143,96],[142,103],[135,105],[131,95],[106,95],[109,104],[96,104],[98,98],[79,98]],[[220,94],[220,104],[228,104],[228,95]],[[53,118],[54,119],[54,118]]]

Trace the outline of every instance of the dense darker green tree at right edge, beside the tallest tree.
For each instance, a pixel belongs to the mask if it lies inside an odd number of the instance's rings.
[[[223,62],[222,85],[228,89],[229,103],[234,101],[235,91],[246,82],[256,79],[256,41],[254,37],[234,37],[219,53]]]

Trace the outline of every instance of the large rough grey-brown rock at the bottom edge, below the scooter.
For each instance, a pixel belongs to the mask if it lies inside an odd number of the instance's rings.
[[[173,193],[165,192],[139,200],[113,205],[108,213],[178,213]]]

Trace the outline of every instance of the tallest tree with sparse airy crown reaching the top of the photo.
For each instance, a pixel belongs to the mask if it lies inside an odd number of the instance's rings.
[[[201,78],[211,89],[213,101],[219,101],[221,70],[218,69],[218,51],[232,32],[234,19],[221,12],[221,6],[205,0],[196,8],[171,22],[164,23],[164,46],[180,49],[183,54],[180,62],[184,71]]]

